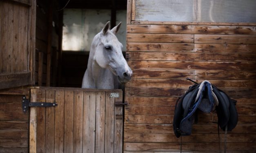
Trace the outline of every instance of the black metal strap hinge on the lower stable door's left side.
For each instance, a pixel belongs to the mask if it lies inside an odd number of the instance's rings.
[[[22,97],[22,111],[24,114],[27,113],[29,110],[29,107],[54,107],[58,104],[56,102],[54,103],[42,103],[42,102],[29,102],[29,99],[26,99],[26,96]]]

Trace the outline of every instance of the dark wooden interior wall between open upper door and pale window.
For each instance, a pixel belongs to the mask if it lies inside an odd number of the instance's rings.
[[[62,11],[57,11],[59,5],[56,0],[37,1],[35,82],[38,86],[58,84],[62,43]]]

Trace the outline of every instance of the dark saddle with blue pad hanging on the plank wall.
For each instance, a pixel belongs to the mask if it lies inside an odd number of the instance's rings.
[[[188,79],[192,81],[191,79]],[[192,81],[194,82],[194,81]],[[196,83],[196,82],[194,82]],[[238,122],[236,101],[212,85],[209,81],[196,83],[176,101],[173,128],[177,138],[191,135],[192,126],[197,120],[197,111],[210,113],[216,110],[218,127],[223,131],[232,131]]]

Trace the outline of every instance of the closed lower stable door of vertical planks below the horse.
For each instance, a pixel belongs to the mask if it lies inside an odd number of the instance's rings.
[[[122,152],[121,90],[35,87],[30,101],[58,104],[30,107],[31,153]]]

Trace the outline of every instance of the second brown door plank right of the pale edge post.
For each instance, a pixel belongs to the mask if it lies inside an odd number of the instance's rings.
[[[47,103],[55,102],[55,90],[46,90],[45,101]],[[47,107],[45,109],[45,152],[54,152],[54,120],[55,108]]]

